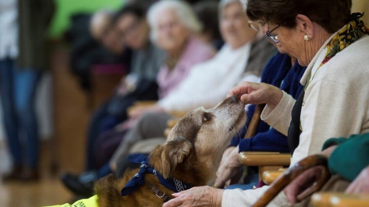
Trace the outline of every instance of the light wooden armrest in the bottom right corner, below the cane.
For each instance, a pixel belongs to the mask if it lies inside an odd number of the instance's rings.
[[[315,207],[367,207],[369,194],[314,193],[311,196],[311,203]]]

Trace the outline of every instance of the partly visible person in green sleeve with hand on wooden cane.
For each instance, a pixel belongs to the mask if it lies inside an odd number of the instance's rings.
[[[325,141],[322,154],[328,158],[328,169],[333,176],[320,191],[369,193],[369,133],[331,138]],[[320,171],[319,166],[313,167],[284,189],[290,204],[310,206],[310,196],[300,203],[296,203],[296,197],[319,178]]]

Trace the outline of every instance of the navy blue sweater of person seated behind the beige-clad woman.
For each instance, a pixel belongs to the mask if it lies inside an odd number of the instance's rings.
[[[292,68],[291,68],[292,67]],[[305,72],[306,67],[302,67],[296,61],[291,65],[291,58],[288,55],[277,53],[268,64],[264,67],[261,82],[280,87],[281,90],[286,91],[297,98],[303,89],[300,84],[300,79]],[[254,115],[256,106],[251,105],[248,108],[248,126],[252,115]],[[239,145],[239,151],[277,151],[289,152],[287,145],[287,137],[279,131],[270,127],[262,120],[259,121],[256,129],[256,135],[251,138],[243,139],[246,133],[246,126],[242,129],[239,136],[234,137],[231,141],[231,146]]]

